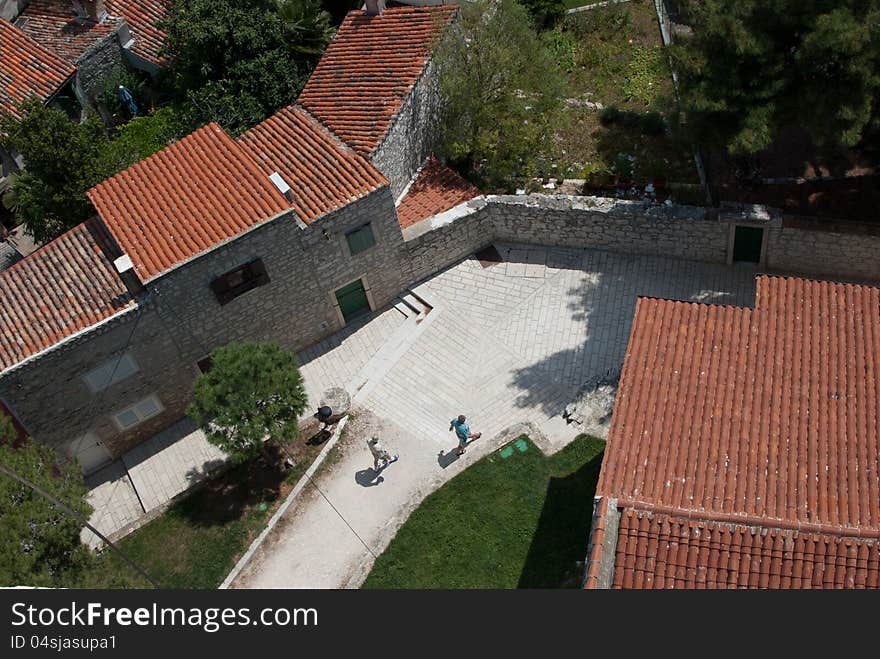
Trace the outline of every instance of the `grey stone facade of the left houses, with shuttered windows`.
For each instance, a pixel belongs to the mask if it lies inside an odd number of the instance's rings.
[[[294,351],[312,345],[342,325],[333,291],[361,277],[374,308],[388,305],[407,283],[393,208],[383,187],[304,229],[293,215],[263,223],[150,282],[137,309],[4,372],[0,398],[46,444],[63,451],[91,431],[118,456],[185,414],[197,362],[212,348],[237,340]],[[345,232],[366,222],[376,245],[351,256]],[[269,283],[220,306],[211,282],[254,258],[263,260]],[[92,394],[83,376],[124,353],[139,371]],[[164,411],[120,432],[111,415],[151,394]]]

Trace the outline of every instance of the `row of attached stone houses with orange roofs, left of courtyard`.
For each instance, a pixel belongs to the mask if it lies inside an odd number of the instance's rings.
[[[353,12],[301,103],[235,140],[205,126],[104,181],[96,218],[0,274],[0,399],[28,432],[97,468],[184,415],[214,347],[300,350],[389,305],[411,281],[395,191],[428,153],[411,99],[436,106],[426,36],[452,15]],[[408,45],[380,58],[389,34]],[[364,69],[351,44],[369,43]],[[370,76],[397,80],[377,91]]]

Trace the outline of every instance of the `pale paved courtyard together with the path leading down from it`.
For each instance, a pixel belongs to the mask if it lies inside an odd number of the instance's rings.
[[[510,438],[502,430],[530,423],[547,452],[571,441],[560,414],[585,383],[620,368],[638,295],[754,303],[753,267],[498,249],[502,263],[465,259],[415,287],[435,301],[425,327],[365,388],[363,419],[320,492],[304,490],[233,587],[357,587],[421,499]],[[328,374],[349,368],[332,353],[316,360]],[[456,460],[448,427],[460,413],[484,437]],[[364,445],[373,432],[401,455],[381,475]]]

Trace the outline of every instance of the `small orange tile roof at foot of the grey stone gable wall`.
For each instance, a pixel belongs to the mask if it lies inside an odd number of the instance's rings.
[[[400,227],[405,229],[480,194],[476,186],[431,156],[397,206]]]

